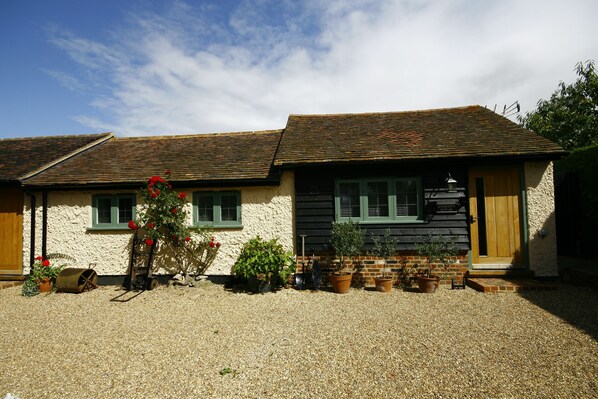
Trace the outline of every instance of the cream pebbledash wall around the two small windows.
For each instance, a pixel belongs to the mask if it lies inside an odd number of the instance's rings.
[[[202,188],[211,191],[219,188]],[[288,250],[294,251],[294,173],[285,171],[280,185],[258,187],[227,187],[227,190],[241,192],[242,228],[215,229],[214,236],[222,246],[207,274],[228,275],[235,263],[243,243],[259,235],[264,239],[279,238]],[[192,198],[199,189],[180,189]],[[125,275],[129,267],[131,230],[92,230],[92,195],[131,193],[120,191],[51,191],[48,193],[47,253],[64,253],[77,259],[76,267],[94,266],[99,275]],[[42,248],[41,194],[37,195],[36,209],[36,255]],[[23,214],[23,264],[24,273],[29,273],[29,251],[31,232],[31,209],[29,198],[25,199]],[[137,198],[140,202],[140,198]],[[188,204],[189,224],[192,206]],[[160,266],[156,264],[155,266]],[[163,272],[159,269],[158,272]]]

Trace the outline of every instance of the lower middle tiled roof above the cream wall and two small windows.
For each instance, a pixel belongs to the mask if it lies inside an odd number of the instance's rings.
[[[25,181],[30,186],[138,184],[172,171],[173,182],[273,178],[281,130],[115,138]]]

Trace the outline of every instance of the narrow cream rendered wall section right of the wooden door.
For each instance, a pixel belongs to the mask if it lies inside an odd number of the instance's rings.
[[[530,269],[558,276],[552,162],[526,162],[525,189]]]

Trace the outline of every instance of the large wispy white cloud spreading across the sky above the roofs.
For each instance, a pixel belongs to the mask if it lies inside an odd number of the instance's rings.
[[[526,111],[598,53],[594,1],[247,0],[228,24],[213,11],[175,2],[104,43],[55,35],[109,87],[93,102],[103,116],[77,120],[148,135],[282,128],[290,113]]]

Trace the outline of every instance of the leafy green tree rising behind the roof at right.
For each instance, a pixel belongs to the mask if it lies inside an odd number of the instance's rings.
[[[575,66],[579,78],[559,83],[550,100],[538,101],[536,110],[518,117],[527,129],[560,144],[566,150],[598,144],[598,75],[594,61]]]

